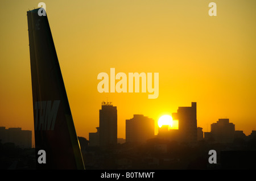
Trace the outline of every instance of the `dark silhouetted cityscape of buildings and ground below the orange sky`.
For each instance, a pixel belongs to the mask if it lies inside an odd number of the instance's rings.
[[[102,102],[97,132],[89,140],[78,137],[85,169],[256,169],[256,131],[246,136],[229,119],[218,119],[203,132],[196,106],[179,107],[172,113],[179,129],[163,125],[156,135],[155,120],[135,114],[126,120],[124,139],[117,136],[117,107]],[[0,127],[1,169],[35,169],[31,135]],[[209,150],[217,151],[216,164],[209,163]]]

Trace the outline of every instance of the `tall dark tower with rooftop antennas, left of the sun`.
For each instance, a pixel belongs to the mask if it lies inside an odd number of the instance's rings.
[[[102,102],[100,110],[100,146],[117,144],[117,107]]]

